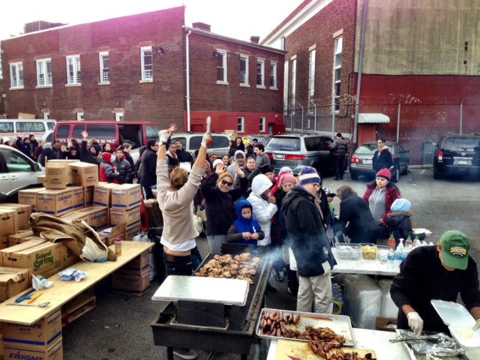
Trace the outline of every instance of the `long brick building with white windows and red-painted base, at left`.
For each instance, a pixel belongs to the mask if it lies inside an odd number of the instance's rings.
[[[202,23],[186,27],[184,10],[179,6],[2,40],[5,113],[161,126],[175,122],[180,131],[189,123],[193,131],[204,130],[209,115],[212,131],[277,130],[273,126],[283,123],[284,51],[213,34]],[[276,86],[269,86],[270,76]]]

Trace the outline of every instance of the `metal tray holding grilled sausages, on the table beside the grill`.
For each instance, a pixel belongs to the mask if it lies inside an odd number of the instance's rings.
[[[269,339],[278,340],[279,338],[283,338],[286,340],[293,340],[293,341],[304,341],[307,342],[308,340],[302,339],[295,339],[290,337],[277,337],[277,336],[270,336],[270,335],[262,335],[261,328],[260,328],[260,319],[261,313],[263,311],[270,312],[270,311],[283,311],[283,314],[293,314],[293,315],[300,315],[300,319],[296,325],[298,331],[303,331],[307,325],[311,325],[313,327],[329,327],[333,331],[335,331],[339,335],[343,335],[345,337],[346,342],[343,346],[353,347],[356,344],[355,337],[353,336],[353,329],[351,328],[350,317],[344,315],[332,315],[332,314],[320,314],[320,313],[312,313],[312,312],[301,312],[301,311],[289,311],[289,310],[282,310],[282,309],[272,309],[272,308],[262,308],[260,310],[260,315],[258,315],[258,320],[256,322],[255,333],[258,337],[264,337]],[[288,328],[294,328],[294,324],[287,325]]]

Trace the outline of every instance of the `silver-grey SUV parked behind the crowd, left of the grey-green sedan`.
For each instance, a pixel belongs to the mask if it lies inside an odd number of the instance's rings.
[[[333,157],[329,147],[332,143],[331,137],[323,135],[279,134],[268,141],[265,153],[276,173],[282,166],[288,166],[296,175],[303,166],[312,166],[325,176],[333,169]]]

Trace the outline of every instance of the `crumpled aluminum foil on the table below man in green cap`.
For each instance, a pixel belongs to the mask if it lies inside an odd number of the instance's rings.
[[[396,330],[398,338],[411,338],[416,339],[415,333],[410,330]],[[433,356],[458,356],[463,355],[465,351],[461,348],[460,344],[450,336],[445,335],[443,332],[430,332],[423,331],[422,337],[433,338],[433,340],[411,341],[408,342],[413,351],[422,355]],[[436,342],[438,340],[438,342]],[[436,342],[436,343],[434,343]]]

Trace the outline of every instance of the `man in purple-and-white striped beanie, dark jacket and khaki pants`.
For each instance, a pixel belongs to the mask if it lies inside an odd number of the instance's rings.
[[[283,198],[281,211],[285,216],[299,275],[296,310],[311,311],[311,302],[315,298],[315,312],[331,313],[330,270],[336,261],[314,203],[319,189],[320,177],[316,170],[310,166],[302,167],[299,185],[295,185]]]

